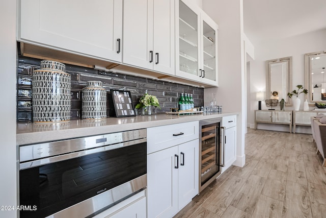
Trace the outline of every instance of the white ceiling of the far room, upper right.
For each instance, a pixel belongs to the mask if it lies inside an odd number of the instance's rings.
[[[255,44],[326,29],[326,0],[243,0],[243,30]]]

